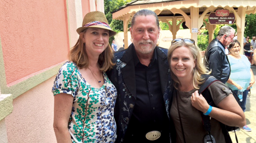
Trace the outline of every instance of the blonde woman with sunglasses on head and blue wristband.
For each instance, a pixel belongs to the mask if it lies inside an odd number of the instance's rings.
[[[213,82],[207,89],[218,107],[210,106],[202,94],[198,94],[209,72],[201,62],[200,49],[192,39],[175,39],[168,50],[174,95],[170,110],[177,132],[177,143],[202,143],[208,132],[202,124],[201,113],[211,117],[210,132],[216,143],[224,143],[225,137],[219,122],[229,126],[244,126],[245,116],[226,85]]]

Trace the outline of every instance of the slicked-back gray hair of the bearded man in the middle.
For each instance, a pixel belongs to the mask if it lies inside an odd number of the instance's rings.
[[[154,11],[151,11],[151,10],[148,10],[148,9],[142,9],[140,11],[137,11],[134,14],[134,16],[131,20],[131,27],[133,27],[136,17],[138,17],[138,16],[147,16],[147,15],[153,15],[155,17],[157,27],[159,28],[159,20],[158,20],[157,14]]]

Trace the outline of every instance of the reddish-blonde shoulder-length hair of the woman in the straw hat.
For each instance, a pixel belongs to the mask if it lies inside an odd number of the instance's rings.
[[[88,56],[85,50],[85,44],[83,43],[83,36],[87,29],[82,31],[79,34],[79,38],[74,47],[69,51],[69,60],[76,63],[76,65],[80,68],[88,67]],[[111,51],[110,44],[108,44],[107,48],[99,55],[98,64],[101,71],[107,71],[113,68],[114,63],[113,52]]]

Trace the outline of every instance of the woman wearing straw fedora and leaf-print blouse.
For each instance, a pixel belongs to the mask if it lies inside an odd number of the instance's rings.
[[[116,32],[99,11],[86,14],[76,31],[79,39],[52,88],[56,139],[58,143],[113,143],[117,91],[105,71],[114,65],[108,40]]]

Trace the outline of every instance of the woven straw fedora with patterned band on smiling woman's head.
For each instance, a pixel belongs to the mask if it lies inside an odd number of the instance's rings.
[[[82,27],[76,29],[76,32],[80,34],[84,29],[88,27],[97,27],[109,30],[109,37],[116,35],[116,32],[108,25],[108,20],[105,14],[100,11],[89,12],[84,16]]]

